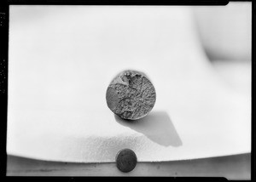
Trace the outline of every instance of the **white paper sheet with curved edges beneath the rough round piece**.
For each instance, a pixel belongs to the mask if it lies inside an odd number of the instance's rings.
[[[218,77],[188,7],[10,6],[8,154],[62,162],[139,162],[251,151],[250,97]],[[124,122],[105,94],[144,71],[156,103]]]

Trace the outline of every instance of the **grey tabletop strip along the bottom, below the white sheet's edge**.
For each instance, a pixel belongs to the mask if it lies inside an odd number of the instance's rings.
[[[137,162],[122,173],[114,162],[47,162],[8,156],[7,176],[172,176],[251,179],[251,154],[220,156],[173,162]]]

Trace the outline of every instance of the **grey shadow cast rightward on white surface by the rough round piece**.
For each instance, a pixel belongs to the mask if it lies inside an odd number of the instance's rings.
[[[119,124],[144,134],[159,145],[183,145],[166,111],[151,111],[146,117],[134,121],[122,119],[117,115],[114,117]]]

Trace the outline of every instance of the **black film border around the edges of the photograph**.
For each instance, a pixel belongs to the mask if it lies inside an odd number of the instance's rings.
[[[235,0],[236,1],[236,0]],[[241,2],[241,1],[239,1]],[[252,86],[253,86],[253,67],[255,67],[255,3],[252,2]],[[7,139],[7,105],[8,105],[8,53],[9,53],[9,5],[226,5],[228,0],[1,0],[0,3],[0,174],[6,177],[6,139]],[[253,117],[253,87],[252,87],[252,152],[251,152],[251,180],[256,179],[255,173],[255,119]],[[10,177],[15,179],[14,177]],[[27,178],[26,178],[27,179]],[[30,178],[29,178],[30,179]],[[33,178],[34,179],[34,178]],[[36,178],[38,179],[38,178]],[[54,178],[56,180],[56,178]],[[80,177],[61,177],[57,179],[81,179]],[[175,180],[183,180],[188,178],[167,178]],[[223,178],[192,178],[203,181],[224,180]]]

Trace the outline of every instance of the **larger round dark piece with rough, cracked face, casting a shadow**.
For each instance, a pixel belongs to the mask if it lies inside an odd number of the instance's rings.
[[[106,100],[113,113],[128,120],[145,117],[154,107],[153,84],[140,71],[122,71],[108,85]]]

